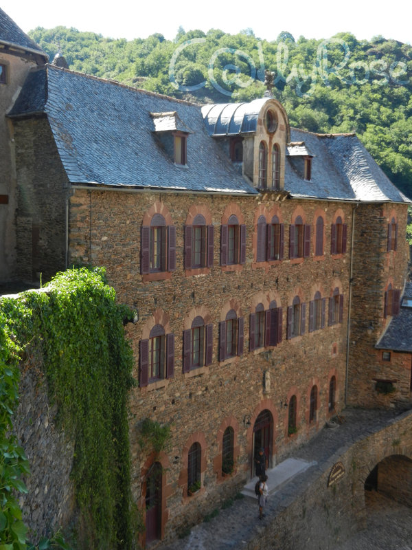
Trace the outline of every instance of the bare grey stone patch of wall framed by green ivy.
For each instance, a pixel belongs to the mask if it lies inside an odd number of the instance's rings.
[[[73,444],[56,426],[56,408],[47,397],[47,382],[36,366],[21,365],[19,408],[14,431],[30,463],[25,478],[27,494],[21,494],[23,521],[30,527],[30,540],[56,532],[67,525],[73,512],[70,479]]]

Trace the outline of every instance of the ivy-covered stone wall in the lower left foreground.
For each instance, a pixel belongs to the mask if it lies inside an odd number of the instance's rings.
[[[67,519],[69,508],[77,547],[131,547],[128,314],[115,303],[102,269],[68,270],[45,289],[0,300],[0,548],[27,547],[20,505],[25,518],[36,516],[27,527],[37,538],[58,527],[59,515]],[[20,374],[25,399],[16,415]],[[28,496],[27,459],[10,431],[13,423],[34,463]],[[53,476],[59,446],[62,465]],[[62,503],[53,509],[55,484],[66,509]],[[13,489],[22,495],[19,502]]]

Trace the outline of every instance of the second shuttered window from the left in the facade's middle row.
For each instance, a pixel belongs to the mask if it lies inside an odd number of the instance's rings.
[[[201,316],[192,321],[192,328],[183,331],[183,372],[211,363],[212,325],[205,325]]]

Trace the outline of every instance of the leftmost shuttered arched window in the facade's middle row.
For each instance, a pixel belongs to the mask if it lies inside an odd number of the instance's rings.
[[[161,325],[155,325],[149,338],[140,340],[139,385],[172,378],[174,375],[174,334],[165,334]]]

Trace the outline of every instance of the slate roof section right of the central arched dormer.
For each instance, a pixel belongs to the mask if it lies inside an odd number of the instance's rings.
[[[316,134],[290,129],[290,141],[304,142],[312,160],[311,179],[286,156],[285,190],[292,197],[411,203],[383,173],[355,134]]]

